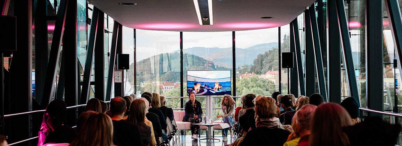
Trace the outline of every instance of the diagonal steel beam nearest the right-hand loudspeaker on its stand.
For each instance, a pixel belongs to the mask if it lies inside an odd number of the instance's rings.
[[[303,72],[303,64],[301,63],[301,48],[300,48],[300,40],[299,40],[299,27],[297,26],[297,18],[293,20],[293,32],[294,32],[294,39],[295,39],[295,49],[296,49],[296,68],[297,73],[299,75],[299,87],[300,87],[300,94],[306,95],[306,88],[304,86],[304,72]]]

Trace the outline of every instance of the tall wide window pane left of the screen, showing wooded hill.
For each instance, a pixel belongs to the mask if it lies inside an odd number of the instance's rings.
[[[145,91],[180,96],[179,32],[137,29],[136,38],[137,96]]]

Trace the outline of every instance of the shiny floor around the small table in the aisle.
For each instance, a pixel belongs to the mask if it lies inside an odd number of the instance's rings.
[[[228,136],[228,141],[225,142],[222,142],[222,137],[216,136],[222,135],[215,135],[215,138],[219,140],[210,140],[210,142],[208,142],[207,140],[193,140],[191,139],[191,135],[180,135],[180,146],[225,146],[225,144],[231,143],[230,134]],[[201,135],[201,137],[199,137],[199,139],[203,138],[205,138],[205,135]]]

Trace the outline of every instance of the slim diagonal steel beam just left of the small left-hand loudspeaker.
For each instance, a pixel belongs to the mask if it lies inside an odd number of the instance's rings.
[[[113,72],[115,71],[115,60],[116,60],[116,44],[117,44],[117,33],[119,30],[119,22],[115,20],[113,24],[113,35],[112,35],[112,45],[110,49],[110,58],[109,58],[109,72],[107,75],[107,87],[106,87],[106,101],[110,100],[110,96],[112,95],[112,84],[113,84]]]

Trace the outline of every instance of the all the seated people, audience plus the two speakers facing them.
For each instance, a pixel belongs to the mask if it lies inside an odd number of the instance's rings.
[[[224,122],[235,128],[237,138],[227,146],[394,146],[401,130],[379,117],[359,118],[359,104],[353,97],[340,104],[324,103],[320,94],[310,97],[275,92],[271,97],[246,94],[235,107],[230,95],[222,98]],[[236,109],[236,110],[235,110]],[[53,100],[43,114],[38,146],[68,143],[70,146],[156,146],[166,140],[166,120],[174,120],[166,98],[144,92],[141,98],[115,97],[110,106],[92,98],[77,120],[76,129],[66,126],[66,103]],[[183,121],[200,123],[201,103],[189,92]],[[224,129],[224,138],[228,134]],[[199,126],[191,125],[197,140]],[[231,130],[231,129],[230,129]],[[231,131],[232,133],[232,131]],[[226,138],[227,140],[227,138]],[[226,141],[224,140],[224,141]],[[0,146],[7,144],[0,135]]]

